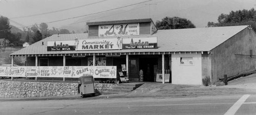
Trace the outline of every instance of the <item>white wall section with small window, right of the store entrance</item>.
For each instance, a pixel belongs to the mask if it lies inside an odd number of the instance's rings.
[[[181,57],[192,57],[193,65],[182,65]],[[202,54],[172,54],[172,83],[202,85]]]

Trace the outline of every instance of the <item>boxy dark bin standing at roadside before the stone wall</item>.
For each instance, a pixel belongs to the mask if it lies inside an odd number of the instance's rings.
[[[86,94],[92,94],[95,96],[93,76],[81,76],[79,77],[78,82],[78,92],[83,98]]]

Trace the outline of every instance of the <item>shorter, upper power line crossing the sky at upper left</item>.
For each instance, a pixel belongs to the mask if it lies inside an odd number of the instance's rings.
[[[85,6],[101,3],[101,2],[104,2],[104,1],[109,1],[109,0],[103,0],[103,1],[95,2],[95,3],[91,3],[91,4],[86,4],[86,5],[81,5],[81,6],[77,6],[77,7],[61,9],[61,10],[56,10],[56,11],[51,11],[51,12],[44,12],[44,13],[39,13],[39,14],[32,14],[32,15],[18,16],[18,17],[11,17],[11,18],[12,19],[16,19],[16,18],[32,17],[32,16],[38,16],[38,15],[45,15],[45,14],[51,14],[51,13],[56,13],[56,12],[62,12],[62,11],[66,11],[66,10],[72,10],[72,9],[76,9],[76,8],[80,8],[80,7],[85,7]]]

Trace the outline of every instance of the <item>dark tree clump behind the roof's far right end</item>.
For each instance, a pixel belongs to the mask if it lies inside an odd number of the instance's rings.
[[[230,11],[229,14],[220,14],[218,22],[208,22],[207,27],[222,27],[222,26],[239,26],[251,25],[252,29],[256,31],[256,11],[254,8],[250,10]]]

